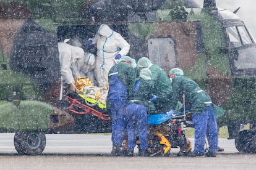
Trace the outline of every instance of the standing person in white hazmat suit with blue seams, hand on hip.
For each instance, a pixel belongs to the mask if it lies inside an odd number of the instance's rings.
[[[88,39],[87,44],[96,44],[97,47],[95,76],[98,86],[108,87],[108,71],[116,60],[128,54],[130,45],[106,24],[100,25],[95,37]]]

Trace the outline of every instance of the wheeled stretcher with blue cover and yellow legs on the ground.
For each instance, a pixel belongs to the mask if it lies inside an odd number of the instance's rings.
[[[189,110],[186,113],[148,116],[150,156],[169,156],[171,148],[177,147],[180,148],[177,156],[187,155],[192,150],[192,143],[185,135],[187,117],[190,117]]]

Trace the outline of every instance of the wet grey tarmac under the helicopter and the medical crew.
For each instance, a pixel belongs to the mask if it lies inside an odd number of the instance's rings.
[[[224,152],[216,158],[113,157],[111,134],[47,134],[40,156],[20,156],[13,144],[14,134],[0,134],[0,169],[255,169],[256,154],[239,153],[234,140],[219,139]],[[194,139],[192,143],[194,143]]]

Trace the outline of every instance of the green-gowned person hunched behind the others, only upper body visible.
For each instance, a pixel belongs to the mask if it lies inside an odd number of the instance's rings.
[[[152,73],[153,91],[151,102],[154,102],[157,113],[169,111],[172,87],[168,75],[158,65],[152,64],[147,57],[142,57],[137,63],[140,69],[149,68]]]

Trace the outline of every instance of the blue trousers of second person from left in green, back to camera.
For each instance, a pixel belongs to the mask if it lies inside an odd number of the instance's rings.
[[[133,151],[139,132],[140,148],[148,148],[147,108],[143,105],[130,103],[126,107],[128,150]]]

